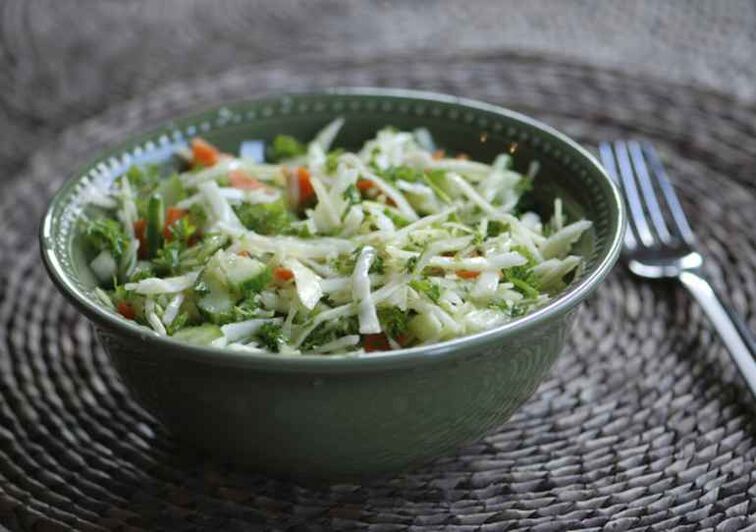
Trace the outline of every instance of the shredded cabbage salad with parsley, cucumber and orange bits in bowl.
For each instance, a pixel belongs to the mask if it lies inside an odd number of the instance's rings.
[[[161,336],[255,353],[432,344],[511,321],[563,290],[591,222],[541,219],[501,154],[447,156],[425,129],[333,148],[279,135],[239,157],[201,138],[170,165],[91,185],[82,237],[103,303]]]

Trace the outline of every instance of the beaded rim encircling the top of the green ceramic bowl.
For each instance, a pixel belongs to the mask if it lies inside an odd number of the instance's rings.
[[[81,179],[85,173],[82,169],[92,166],[99,161],[101,156],[95,155],[87,163],[77,167],[76,171],[70,175],[61,187],[51,198],[45,211],[42,223],[39,228],[39,243],[43,263],[52,278],[54,284],[71,301],[87,318],[95,324],[107,329],[115,329],[121,334],[142,340],[154,347],[163,347],[171,352],[171,356],[194,360],[198,362],[207,362],[211,365],[235,366],[235,367],[254,367],[272,371],[287,372],[342,372],[342,371],[362,371],[368,369],[392,369],[398,367],[416,366],[420,363],[439,361],[455,356],[464,356],[464,353],[490,344],[492,341],[503,340],[516,332],[524,331],[542,324],[543,322],[562,315],[573,307],[585,300],[606,277],[611,268],[617,261],[626,226],[626,213],[624,200],[617,184],[609,177],[604,168],[599,164],[596,158],[576,141],[569,138],[557,129],[531,118],[517,111],[512,111],[505,107],[485,103],[479,100],[451,96],[430,91],[418,91],[410,89],[396,88],[371,88],[371,87],[336,87],[317,91],[302,92],[275,92],[251,99],[240,99],[230,102],[222,102],[212,106],[207,106],[198,110],[187,112],[180,116],[174,117],[167,121],[162,121],[152,125],[144,131],[137,131],[130,135],[129,138],[141,138],[154,135],[162,129],[166,123],[190,120],[193,117],[221,109],[226,106],[253,103],[269,100],[279,100],[281,98],[302,98],[302,97],[339,97],[339,96],[371,96],[371,97],[389,97],[397,99],[420,99],[433,103],[453,104],[478,111],[491,112],[508,119],[518,121],[529,127],[538,129],[556,139],[558,142],[566,145],[571,150],[583,157],[598,175],[603,177],[604,187],[608,190],[608,202],[610,203],[610,212],[615,213],[614,231],[609,235],[608,244],[605,246],[605,253],[600,257],[597,266],[587,277],[581,279],[576,285],[564,295],[555,298],[547,305],[511,322],[499,327],[481,331],[468,336],[462,336],[451,340],[446,340],[436,344],[399,349],[394,351],[382,351],[355,355],[328,355],[328,356],[302,356],[302,355],[271,355],[258,354],[246,351],[232,350],[220,347],[197,346],[186,342],[174,340],[171,337],[159,336],[146,327],[134,322],[118,318],[111,312],[107,311],[102,305],[92,302],[69,278],[63,270],[63,267],[55,253],[53,239],[53,211],[56,205],[66,197],[67,193]],[[126,144],[128,138],[124,139],[122,144]],[[151,356],[159,356],[151,354]]]

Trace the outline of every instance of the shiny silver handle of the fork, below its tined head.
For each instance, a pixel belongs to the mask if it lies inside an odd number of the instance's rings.
[[[680,282],[696,298],[711,320],[748,388],[756,397],[756,339],[748,324],[719,298],[711,283],[700,273],[683,272],[680,274]]]

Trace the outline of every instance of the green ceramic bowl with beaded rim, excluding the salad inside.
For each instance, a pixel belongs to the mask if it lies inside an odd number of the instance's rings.
[[[302,139],[344,116],[339,145],[356,148],[385,125],[428,127],[439,145],[483,161],[514,153],[541,163],[533,201],[548,215],[594,222],[577,250],[584,272],[548,306],[502,327],[361,357],[286,357],[161,338],[98,303],[78,245],[82,192],[132,163],[164,160],[194,135],[227,151],[248,139]],[[120,375],[180,440],[221,459],[290,477],[353,479],[406,470],[504,423],[546,375],[578,305],[610,270],[624,212],[617,188],[578,144],[531,118],[484,103],[404,90],[336,89],[231,103],[176,119],[100,154],[53,199],[41,228],[50,276],[92,320]]]

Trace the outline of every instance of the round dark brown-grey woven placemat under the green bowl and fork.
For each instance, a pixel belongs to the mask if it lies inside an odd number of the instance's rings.
[[[700,309],[618,268],[551,377],[500,430],[404,476],[299,486],[179,449],[48,281],[36,223],[84,158],[178,112],[380,85],[482,98],[587,145],[660,148],[710,273],[756,324],[756,109],[537,57],[270,63],[175,84],[69,129],[2,189],[0,523],[11,529],[754,530],[756,403]]]

